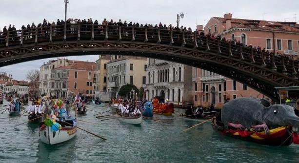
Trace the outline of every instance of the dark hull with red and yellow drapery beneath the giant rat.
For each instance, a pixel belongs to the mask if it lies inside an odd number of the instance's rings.
[[[269,134],[266,135],[264,131],[255,132],[239,129],[225,130],[223,123],[219,121],[219,118],[214,118],[211,124],[213,129],[219,132],[221,135],[229,136],[243,141],[271,146],[288,146],[293,143],[293,138],[291,135],[292,127],[290,126],[280,126],[274,129],[270,129]]]

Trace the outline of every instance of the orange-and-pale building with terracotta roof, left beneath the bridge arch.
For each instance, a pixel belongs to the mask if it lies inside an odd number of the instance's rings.
[[[93,98],[96,63],[73,61],[67,66],[52,69],[50,96],[65,98],[69,93]]]

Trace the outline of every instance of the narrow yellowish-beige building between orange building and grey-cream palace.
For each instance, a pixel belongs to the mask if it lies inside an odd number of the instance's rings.
[[[96,61],[95,97],[102,101],[110,101],[111,94],[108,93],[107,62],[110,56],[101,56]]]

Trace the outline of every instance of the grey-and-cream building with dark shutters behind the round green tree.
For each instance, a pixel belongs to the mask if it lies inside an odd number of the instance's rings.
[[[111,97],[119,97],[118,92],[122,85],[134,84],[142,87],[146,81],[147,60],[142,57],[112,56],[108,66],[108,92]],[[117,59],[116,59],[117,58]]]

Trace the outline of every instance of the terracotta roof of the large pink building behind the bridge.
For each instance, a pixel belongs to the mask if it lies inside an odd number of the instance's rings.
[[[225,22],[224,18],[213,17],[216,20]],[[232,28],[250,28],[259,30],[272,30],[281,32],[299,32],[299,24],[296,22],[280,22],[280,21],[267,21],[267,20],[247,20],[247,19],[231,19],[232,23],[239,23]],[[295,26],[290,26],[294,24]]]

